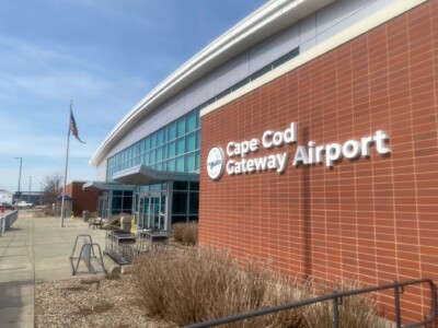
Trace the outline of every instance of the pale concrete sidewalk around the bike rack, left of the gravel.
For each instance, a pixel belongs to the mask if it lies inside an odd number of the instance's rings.
[[[0,327],[34,327],[36,282],[83,277],[72,276],[69,259],[78,235],[91,235],[104,250],[105,231],[89,229],[80,218],[67,219],[64,225],[59,218],[20,210],[11,230],[0,237]],[[80,250],[82,244],[78,245]],[[106,269],[114,265],[106,256],[104,261]]]

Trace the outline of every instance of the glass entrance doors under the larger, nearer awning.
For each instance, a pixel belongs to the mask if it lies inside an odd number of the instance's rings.
[[[165,230],[165,194],[140,194],[138,198],[139,226],[150,230]]]

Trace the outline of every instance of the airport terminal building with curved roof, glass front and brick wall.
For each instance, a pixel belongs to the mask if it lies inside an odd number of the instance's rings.
[[[300,280],[437,281],[437,0],[268,1],[134,106],[88,187]]]

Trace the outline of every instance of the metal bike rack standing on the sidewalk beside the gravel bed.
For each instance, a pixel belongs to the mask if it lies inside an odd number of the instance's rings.
[[[78,246],[79,238],[82,237],[82,247],[79,253],[79,256],[74,256],[76,247]],[[94,250],[97,249],[97,251]],[[99,257],[95,254],[99,254]],[[77,260],[76,265],[73,263]],[[88,271],[78,271],[79,265],[81,260],[84,261]],[[71,263],[71,274],[77,273],[99,273],[104,272],[106,274],[105,263],[103,261],[101,246],[96,243],[93,243],[93,239],[90,235],[78,235],[76,237],[73,250],[71,251],[70,256],[70,263]],[[97,267],[97,268],[95,268]]]

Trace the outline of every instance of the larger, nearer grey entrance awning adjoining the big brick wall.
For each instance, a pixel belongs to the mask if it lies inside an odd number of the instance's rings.
[[[145,165],[117,172],[113,180],[126,185],[153,185],[166,181],[199,181],[196,173],[158,171]]]

